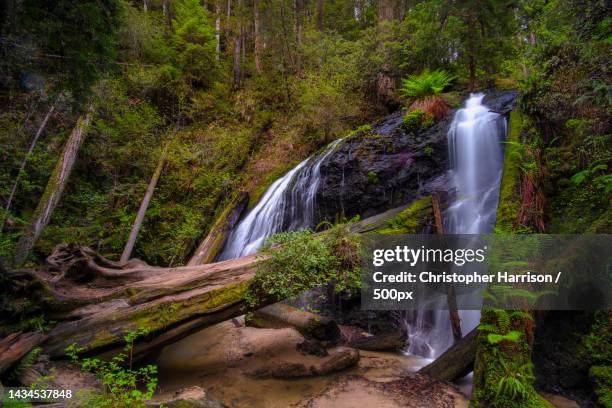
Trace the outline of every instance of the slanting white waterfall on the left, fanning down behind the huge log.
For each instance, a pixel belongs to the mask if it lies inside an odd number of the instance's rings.
[[[314,227],[321,164],[340,141],[333,141],[321,155],[309,157],[276,180],[229,234],[219,260],[252,254],[277,232]]]

